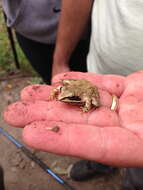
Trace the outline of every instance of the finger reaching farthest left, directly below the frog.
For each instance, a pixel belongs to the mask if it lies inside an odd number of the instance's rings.
[[[100,107],[84,113],[81,108],[58,101],[16,102],[6,109],[4,119],[8,124],[23,127],[32,121],[54,120],[67,123],[118,125],[117,113],[107,107]]]

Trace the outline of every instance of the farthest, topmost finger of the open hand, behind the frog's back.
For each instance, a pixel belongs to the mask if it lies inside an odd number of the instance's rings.
[[[59,82],[64,79],[86,79],[98,88],[106,90],[111,94],[120,96],[124,90],[125,77],[120,75],[100,75],[94,73],[68,72],[56,75],[52,82]]]

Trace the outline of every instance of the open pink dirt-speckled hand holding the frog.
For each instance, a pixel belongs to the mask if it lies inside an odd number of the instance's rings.
[[[143,167],[143,72],[124,78],[69,72],[54,77],[87,79],[100,88],[101,107],[83,113],[77,106],[48,101],[53,88],[31,85],[23,89],[21,101],[6,109],[10,125],[24,127],[23,139],[33,148],[97,162]],[[110,109],[112,94],[118,109]]]

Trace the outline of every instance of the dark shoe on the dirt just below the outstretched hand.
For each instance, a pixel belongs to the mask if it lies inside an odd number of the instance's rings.
[[[70,169],[69,176],[75,181],[88,180],[95,175],[106,175],[115,170],[115,167],[100,164],[94,161],[81,160]]]

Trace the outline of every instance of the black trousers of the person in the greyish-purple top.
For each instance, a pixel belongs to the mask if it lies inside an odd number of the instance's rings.
[[[34,70],[44,82],[50,84],[55,45],[39,43],[25,38],[19,33],[16,33],[16,37]],[[89,40],[80,41],[69,61],[71,71],[87,72],[86,57],[88,50]]]

